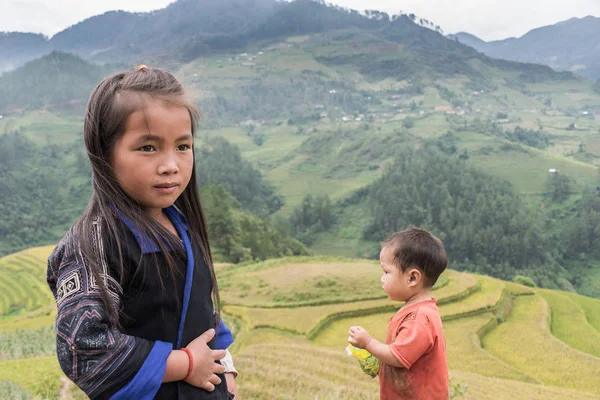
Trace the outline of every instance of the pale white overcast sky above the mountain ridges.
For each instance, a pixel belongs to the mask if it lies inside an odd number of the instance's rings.
[[[202,1],[202,0],[198,0]],[[47,36],[109,10],[151,11],[173,0],[2,0],[0,32]],[[356,10],[416,14],[444,33],[468,32],[484,40],[520,37],[529,30],[572,17],[600,17],[600,0],[328,0]]]

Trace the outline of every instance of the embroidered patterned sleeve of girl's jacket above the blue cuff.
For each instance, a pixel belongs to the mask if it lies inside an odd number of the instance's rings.
[[[102,241],[101,223],[94,221],[92,243],[101,266],[100,277],[113,304],[120,304],[122,289],[109,273]],[[53,283],[56,282],[56,287]],[[48,260],[48,283],[58,306],[56,349],[65,374],[88,396],[94,397],[112,385],[104,385],[126,362],[136,340],[109,324],[108,313],[89,263],[69,232]],[[121,377],[119,377],[121,378]]]

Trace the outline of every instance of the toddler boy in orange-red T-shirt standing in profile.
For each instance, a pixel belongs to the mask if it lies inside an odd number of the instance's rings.
[[[405,301],[390,319],[386,344],[360,326],[350,328],[348,342],[379,359],[381,400],[447,400],[446,339],[431,288],[446,269],[440,239],[409,227],[382,244],[383,291]]]

